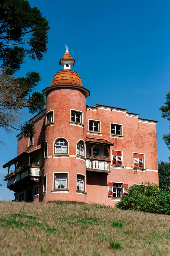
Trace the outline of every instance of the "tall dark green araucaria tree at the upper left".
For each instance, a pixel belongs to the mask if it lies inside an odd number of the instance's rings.
[[[43,94],[34,91],[41,76],[33,71],[25,77],[14,75],[27,55],[32,60],[43,58],[49,28],[46,17],[27,0],[0,1],[0,128],[7,133],[11,129],[22,130],[25,137],[35,133],[34,125],[21,121],[26,109],[34,114],[45,106]]]

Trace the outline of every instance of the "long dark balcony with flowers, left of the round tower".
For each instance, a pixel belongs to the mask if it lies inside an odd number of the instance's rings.
[[[26,167],[18,171],[15,175],[8,176],[5,180],[8,180],[8,188],[14,190],[14,187],[24,184],[29,181],[39,182],[39,177],[41,177],[41,168],[37,167]]]

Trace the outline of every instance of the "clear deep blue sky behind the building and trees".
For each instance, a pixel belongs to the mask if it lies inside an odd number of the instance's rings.
[[[54,1],[31,0],[49,20],[48,53],[41,61],[22,65],[17,73],[37,71],[42,76],[37,90],[50,85],[68,43],[76,59],[73,70],[90,90],[88,105],[127,108],[140,118],[158,120],[158,160],[169,161],[162,134],[169,121],[159,107],[170,90],[170,1]],[[3,135],[8,149],[0,148],[1,166],[16,156],[17,139]],[[1,181],[2,183],[2,181]],[[13,191],[0,187],[0,200],[13,199]],[[8,198],[7,198],[8,197]]]

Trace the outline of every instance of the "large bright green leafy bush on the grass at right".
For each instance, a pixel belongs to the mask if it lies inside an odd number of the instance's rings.
[[[170,215],[170,188],[159,189],[157,184],[133,185],[129,194],[116,204],[123,210],[143,211]]]

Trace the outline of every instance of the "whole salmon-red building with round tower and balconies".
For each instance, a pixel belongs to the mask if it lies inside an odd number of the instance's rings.
[[[71,70],[74,63],[67,48],[59,62],[64,69],[43,90],[46,109],[29,120],[37,133],[29,139],[19,134],[17,157],[3,166],[19,201],[114,206],[131,185],[158,184],[157,121],[124,108],[86,105],[90,91]]]

